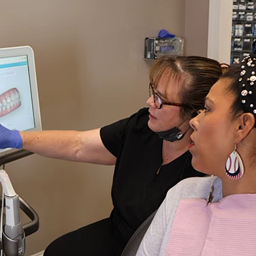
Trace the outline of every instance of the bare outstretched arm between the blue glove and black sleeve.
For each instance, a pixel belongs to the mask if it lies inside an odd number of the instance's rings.
[[[38,155],[114,165],[116,157],[103,145],[100,129],[90,131],[20,131],[22,148]]]

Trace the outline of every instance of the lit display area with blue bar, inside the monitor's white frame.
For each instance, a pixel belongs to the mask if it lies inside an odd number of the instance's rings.
[[[26,56],[0,60],[0,123],[19,131],[35,127]]]

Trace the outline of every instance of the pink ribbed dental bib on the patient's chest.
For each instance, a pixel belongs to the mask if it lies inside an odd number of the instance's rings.
[[[183,199],[165,255],[256,255],[256,194],[228,195],[208,206],[204,199]]]

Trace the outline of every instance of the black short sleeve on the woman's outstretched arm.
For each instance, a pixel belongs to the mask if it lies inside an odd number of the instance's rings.
[[[111,125],[106,125],[100,129],[101,141],[103,142],[103,145],[115,157],[118,155],[118,150],[121,145],[121,137],[128,122],[129,118],[125,118],[112,123]]]

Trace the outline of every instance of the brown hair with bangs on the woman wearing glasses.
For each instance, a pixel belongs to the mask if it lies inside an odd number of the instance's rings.
[[[180,116],[184,120],[191,118],[193,113],[204,108],[204,98],[211,86],[223,74],[221,64],[213,59],[197,56],[164,56],[155,61],[150,68],[150,82],[155,89],[159,80],[167,76],[180,87],[181,107]],[[165,86],[165,93],[167,86]],[[166,97],[165,97],[166,98]]]

